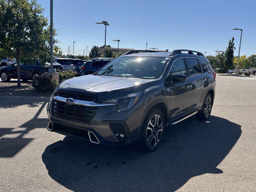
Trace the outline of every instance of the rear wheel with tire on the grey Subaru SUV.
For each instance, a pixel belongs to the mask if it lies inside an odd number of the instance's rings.
[[[204,100],[202,109],[196,114],[196,118],[202,121],[208,120],[212,112],[212,104],[212,95],[208,93]]]

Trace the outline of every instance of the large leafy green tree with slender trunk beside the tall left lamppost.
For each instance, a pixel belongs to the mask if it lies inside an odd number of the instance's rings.
[[[16,58],[18,86],[20,62],[44,62],[50,54],[50,30],[43,13],[36,0],[0,0],[0,55]]]

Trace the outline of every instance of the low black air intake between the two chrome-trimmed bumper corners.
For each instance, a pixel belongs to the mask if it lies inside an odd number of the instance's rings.
[[[56,122],[54,122],[54,131],[55,132],[61,132],[63,134],[68,134],[68,133],[75,134],[76,136],[80,136],[84,139],[89,139],[87,130],[82,130],[82,129],[79,129],[79,128],[73,128],[73,127],[70,127],[70,126],[58,124]]]

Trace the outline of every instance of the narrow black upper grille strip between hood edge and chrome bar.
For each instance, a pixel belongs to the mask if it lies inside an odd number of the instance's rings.
[[[73,99],[83,100],[83,101],[94,101],[94,102],[97,101],[97,97],[93,94],[82,94],[78,92],[58,91],[55,93],[55,96],[73,98]]]

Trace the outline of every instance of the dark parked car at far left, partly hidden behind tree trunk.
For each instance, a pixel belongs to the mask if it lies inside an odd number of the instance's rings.
[[[48,71],[48,68],[42,67],[40,62],[35,62],[34,64],[20,64],[20,78],[22,80],[29,80],[34,78],[34,76]],[[0,77],[3,82],[8,82],[10,79],[17,79],[17,63],[13,63],[8,66],[3,66],[0,68]]]

